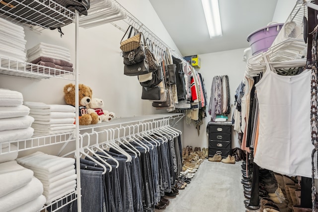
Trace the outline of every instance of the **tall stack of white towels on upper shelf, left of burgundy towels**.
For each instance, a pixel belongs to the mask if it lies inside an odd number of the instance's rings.
[[[25,62],[26,40],[24,40],[24,36],[23,27],[0,18],[0,56]],[[1,61],[2,65],[6,61]]]

